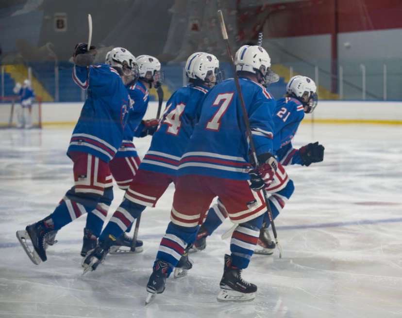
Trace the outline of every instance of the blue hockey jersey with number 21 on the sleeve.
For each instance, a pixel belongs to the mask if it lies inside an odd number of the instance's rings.
[[[293,148],[292,139],[304,118],[303,104],[296,98],[278,99],[274,111],[274,151],[282,165],[302,164],[299,150]]]

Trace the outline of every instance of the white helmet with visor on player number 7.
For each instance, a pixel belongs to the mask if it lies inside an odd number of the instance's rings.
[[[271,58],[267,51],[258,45],[243,45],[234,55],[236,71],[260,74],[259,82],[268,85],[279,80],[279,76],[271,71]]]

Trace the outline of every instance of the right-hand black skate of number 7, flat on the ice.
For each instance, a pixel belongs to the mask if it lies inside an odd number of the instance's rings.
[[[219,286],[218,302],[252,301],[257,292],[257,286],[241,278],[241,269],[232,266],[232,257],[227,254]]]

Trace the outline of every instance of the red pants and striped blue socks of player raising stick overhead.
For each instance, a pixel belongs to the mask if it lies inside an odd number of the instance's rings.
[[[55,230],[93,211],[100,203],[105,188],[111,190],[112,186],[107,162],[84,152],[71,152],[69,155],[74,162],[74,186],[50,214]]]

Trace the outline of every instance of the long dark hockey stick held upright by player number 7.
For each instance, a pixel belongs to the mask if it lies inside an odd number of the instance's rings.
[[[238,96],[239,96],[239,99],[240,99],[240,105],[241,105],[241,109],[242,109],[242,112],[243,112],[244,124],[246,126],[247,139],[249,140],[249,143],[250,143],[252,159],[254,160],[254,164],[258,166],[257,153],[255,151],[254,141],[253,141],[252,136],[251,136],[249,115],[247,113],[246,104],[244,102],[243,94],[241,92],[240,82],[239,82],[239,78],[238,78],[237,72],[236,72],[236,66],[234,65],[234,59],[233,59],[233,55],[232,55],[232,50],[231,50],[230,45],[229,45],[228,32],[226,32],[225,20],[223,19],[223,14],[222,14],[221,10],[218,10],[218,16],[219,16],[219,20],[220,20],[220,29],[222,31],[222,37],[223,37],[223,40],[225,40],[225,42],[226,42],[226,50],[227,50],[227,53],[228,53],[228,56],[229,56],[230,64],[232,65],[232,68],[233,68],[234,83],[236,85],[236,90],[237,90],[237,93],[238,93]],[[274,223],[273,218],[272,218],[272,212],[271,212],[271,210],[269,208],[269,202],[268,202],[268,199],[267,199],[267,192],[265,191],[265,189],[263,189],[262,191],[263,191],[264,198],[265,198],[265,203],[266,203],[266,206],[267,206],[268,218],[269,218],[269,222],[271,223],[272,233],[274,235],[275,243],[278,246],[279,258],[282,258],[282,247],[279,244],[278,234],[276,232],[275,223]]]

